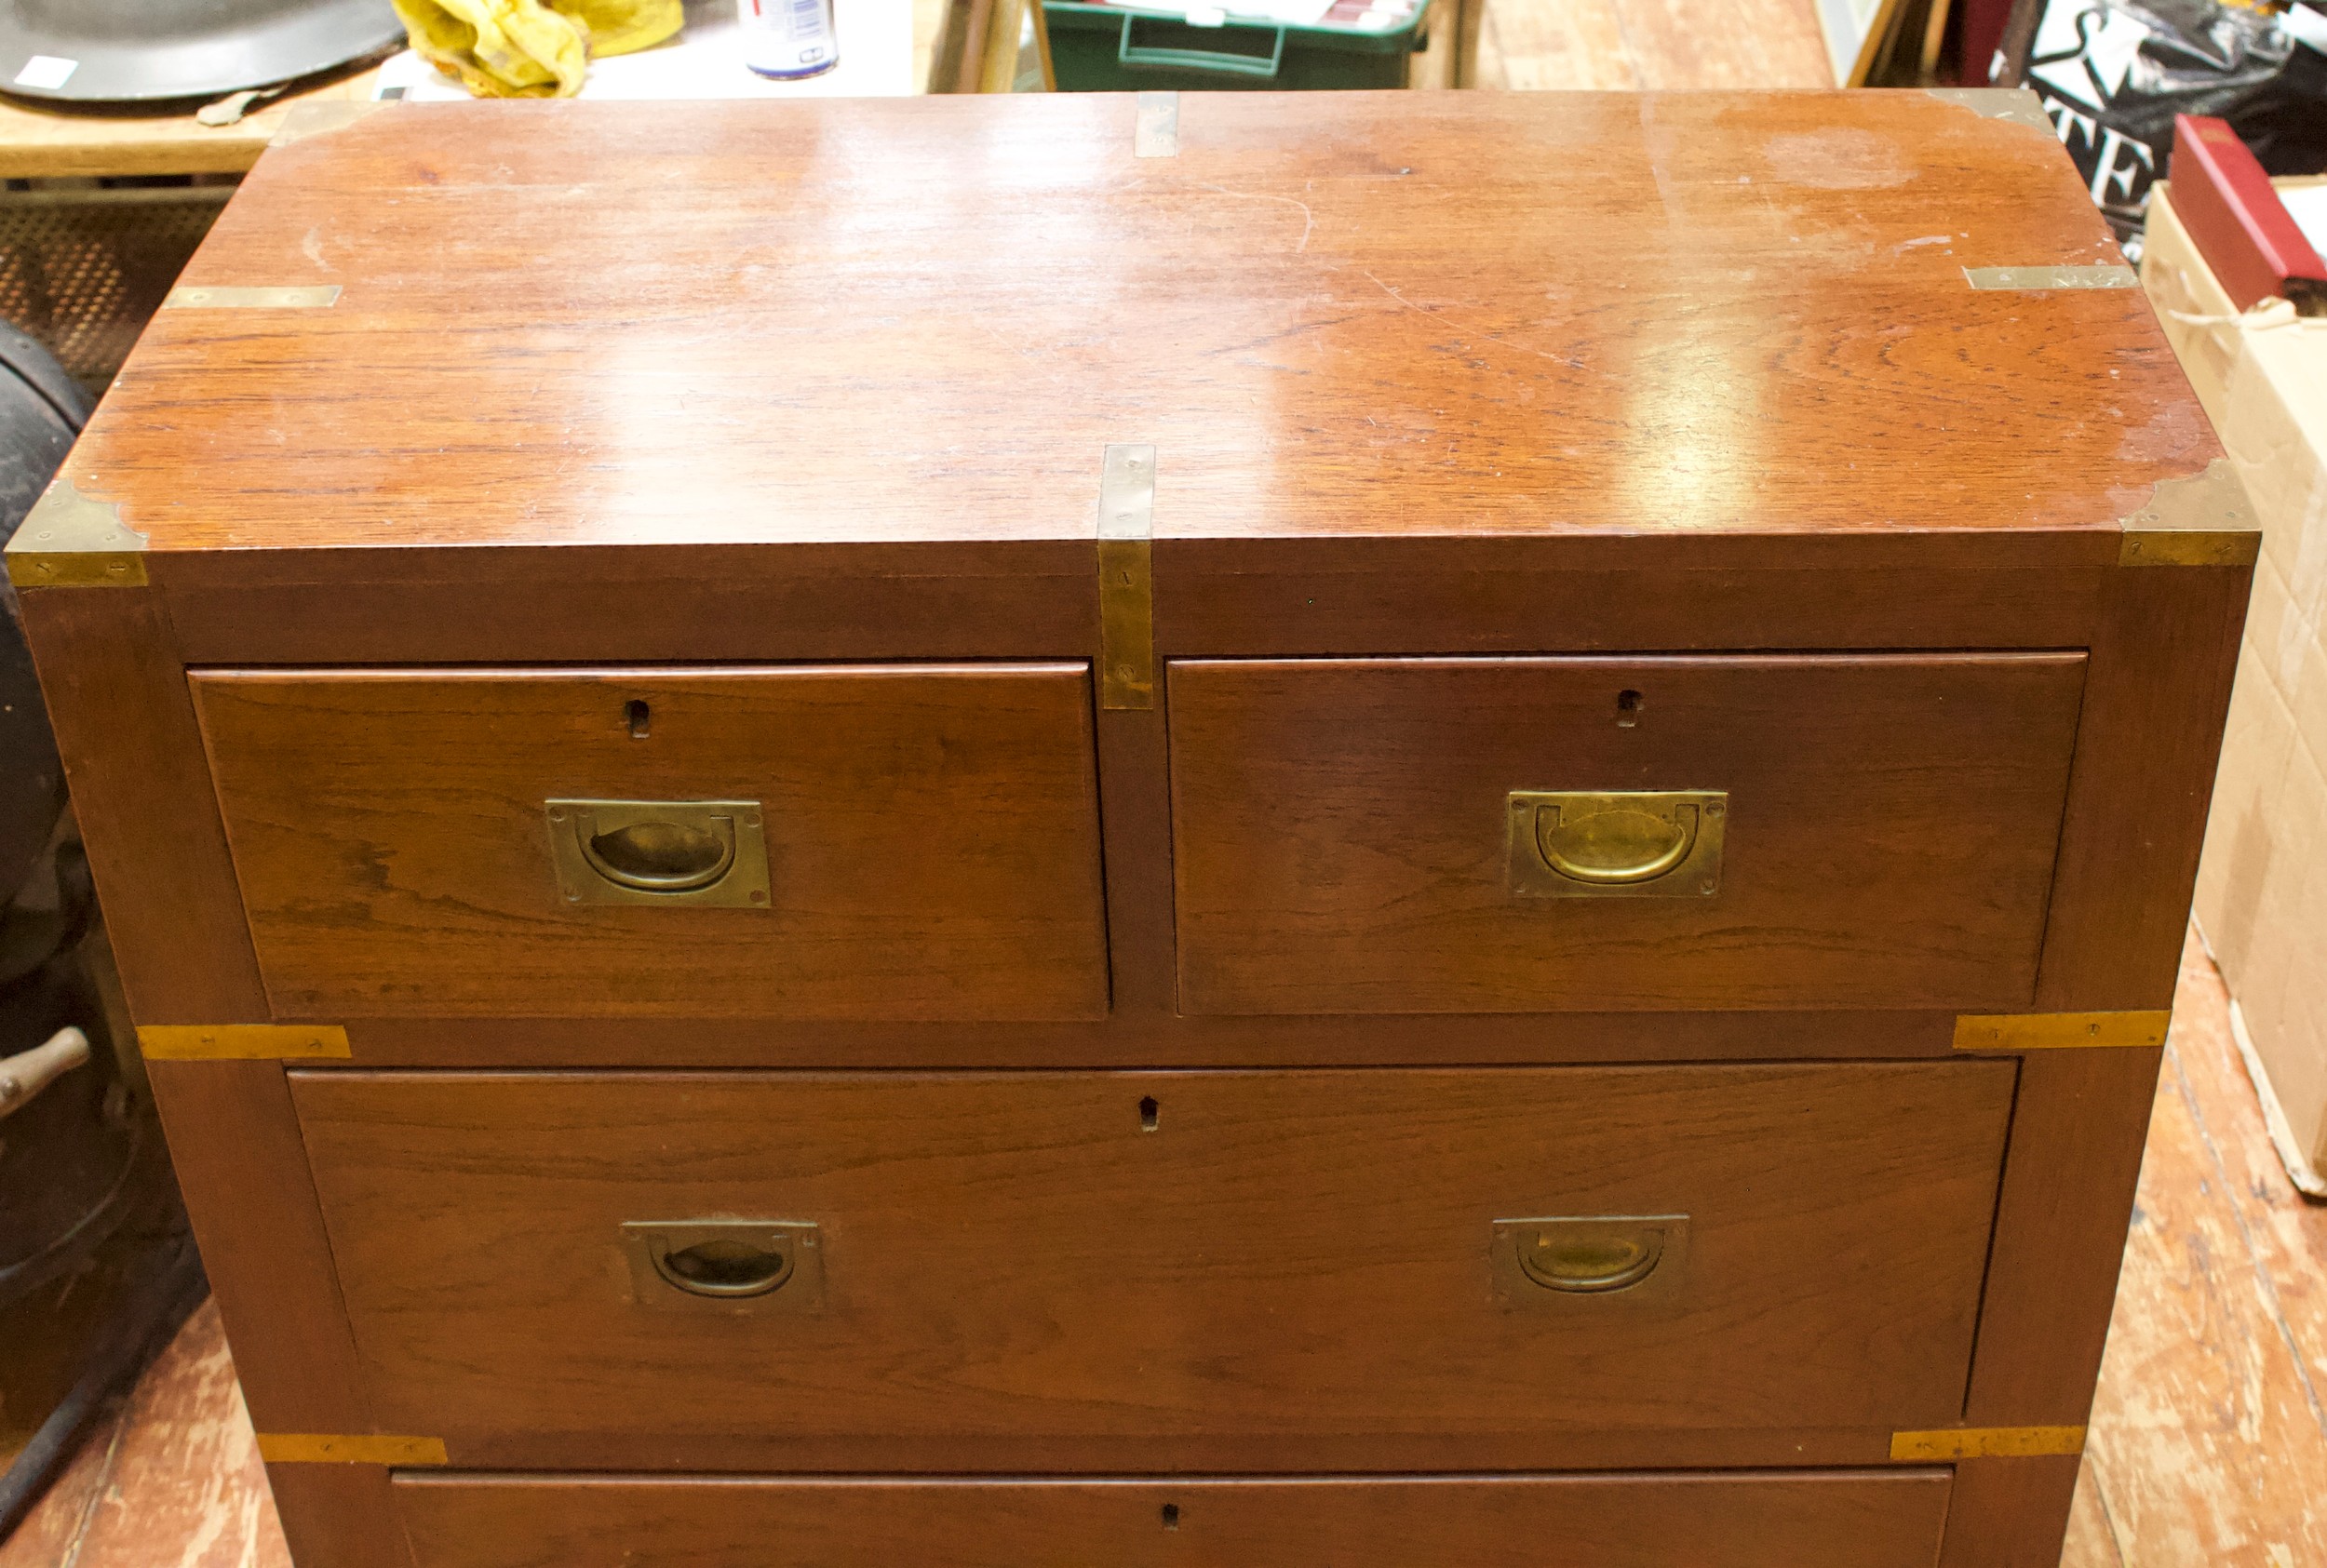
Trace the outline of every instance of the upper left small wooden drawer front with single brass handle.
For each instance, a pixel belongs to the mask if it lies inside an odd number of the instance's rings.
[[[1084,665],[191,679],[282,1019],[1105,1014]]]

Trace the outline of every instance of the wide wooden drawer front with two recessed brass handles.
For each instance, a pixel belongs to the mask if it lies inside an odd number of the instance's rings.
[[[1957,1419],[2015,1077],[293,1082],[370,1410],[456,1463],[1250,1468],[1419,1433],[1552,1468],[1578,1433]],[[656,1252],[789,1273],[710,1298]]]

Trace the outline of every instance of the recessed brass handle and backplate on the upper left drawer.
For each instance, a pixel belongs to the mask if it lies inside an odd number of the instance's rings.
[[[542,800],[561,903],[768,907],[759,800]]]

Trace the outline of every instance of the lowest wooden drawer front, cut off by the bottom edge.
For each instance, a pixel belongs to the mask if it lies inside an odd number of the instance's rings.
[[[1931,1568],[1945,1470],[1496,1480],[396,1477],[417,1568]]]

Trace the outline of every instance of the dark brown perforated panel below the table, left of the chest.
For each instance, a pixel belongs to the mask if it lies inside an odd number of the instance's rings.
[[[0,191],[0,316],[102,393],[228,195],[233,186]]]

